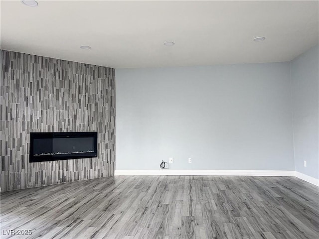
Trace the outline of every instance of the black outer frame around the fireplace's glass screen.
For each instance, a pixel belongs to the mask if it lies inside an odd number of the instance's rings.
[[[63,154],[63,155],[34,155],[34,139],[40,138],[76,138],[76,137],[93,137],[94,152],[85,152],[81,155]],[[97,132],[30,132],[30,151],[29,162],[56,161],[77,158],[96,158],[98,155],[98,133]]]

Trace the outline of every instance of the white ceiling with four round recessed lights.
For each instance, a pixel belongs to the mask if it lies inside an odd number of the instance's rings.
[[[290,61],[319,42],[319,1],[38,3],[1,0],[1,49],[127,68]]]

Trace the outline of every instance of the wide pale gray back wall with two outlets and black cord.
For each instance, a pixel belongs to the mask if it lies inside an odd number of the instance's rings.
[[[289,65],[116,69],[116,169],[294,170]]]

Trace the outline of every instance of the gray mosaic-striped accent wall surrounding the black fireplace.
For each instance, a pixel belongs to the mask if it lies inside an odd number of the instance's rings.
[[[97,131],[98,157],[29,163],[29,132]],[[1,191],[114,175],[115,69],[1,50]]]

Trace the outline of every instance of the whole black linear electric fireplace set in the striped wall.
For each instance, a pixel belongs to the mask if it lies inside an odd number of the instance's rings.
[[[97,132],[30,133],[29,162],[97,157],[97,139]]]

